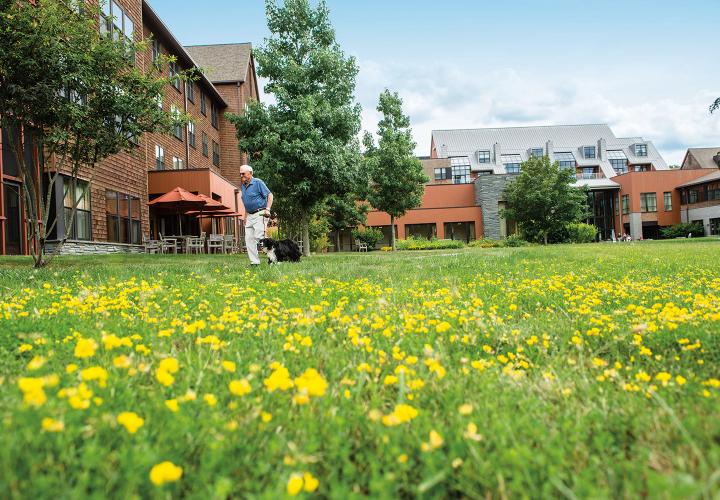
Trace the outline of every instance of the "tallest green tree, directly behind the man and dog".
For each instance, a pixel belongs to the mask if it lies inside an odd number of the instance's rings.
[[[313,9],[308,0],[268,0],[266,12],[271,36],[254,55],[276,102],[253,102],[228,118],[276,197],[273,208],[298,214],[308,255],[311,214],[328,196],[350,192],[361,165],[358,69],[336,42],[324,1]]]

